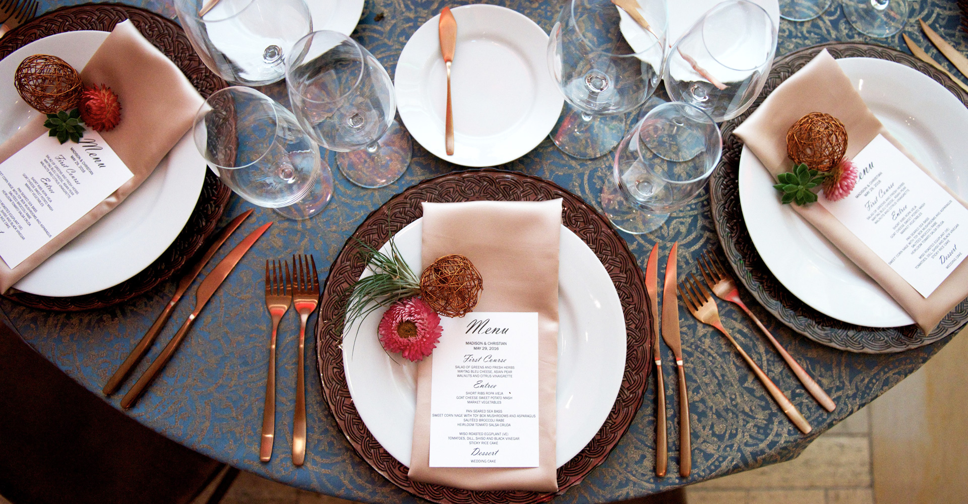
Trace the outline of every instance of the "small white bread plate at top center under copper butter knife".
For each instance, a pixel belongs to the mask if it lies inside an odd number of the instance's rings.
[[[450,69],[454,155],[444,148],[447,73],[439,15],[410,37],[394,76],[397,109],[413,139],[464,166],[512,162],[543,140],[564,98],[548,72],[548,35],[528,16],[496,5],[451,9],[457,49]]]

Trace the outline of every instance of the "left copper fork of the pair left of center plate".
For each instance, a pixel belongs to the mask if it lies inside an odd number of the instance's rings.
[[[286,275],[283,276],[283,264]],[[258,450],[258,460],[267,462],[272,459],[272,442],[276,437],[276,332],[279,321],[292,304],[292,281],[289,277],[288,261],[272,261],[269,275],[269,261],[265,261],[265,308],[272,317],[272,338],[269,340],[269,376],[265,379],[265,405],[262,407],[262,445]]]

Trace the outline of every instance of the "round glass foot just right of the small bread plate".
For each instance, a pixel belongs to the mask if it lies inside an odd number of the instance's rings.
[[[568,156],[591,160],[608,154],[624,134],[624,114],[592,115],[565,103],[549,136]]]

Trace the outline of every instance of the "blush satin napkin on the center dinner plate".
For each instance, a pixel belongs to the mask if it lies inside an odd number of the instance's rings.
[[[484,281],[474,311],[538,313],[538,467],[430,467],[433,355],[417,364],[409,477],[470,490],[557,491],[558,265],[561,199],[423,204],[423,265],[461,253]]]

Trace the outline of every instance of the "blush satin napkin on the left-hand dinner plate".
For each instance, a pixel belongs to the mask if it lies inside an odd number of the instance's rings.
[[[80,75],[85,85],[106,84],[117,93],[121,123],[101,134],[135,176],[13,270],[0,261],[0,292],[6,292],[133,193],[188,132],[204,102],[188,78],[141,36],[130,19],[114,27]],[[44,121],[45,115],[39,114],[0,145],[0,162],[45,134]]]

